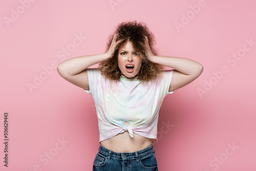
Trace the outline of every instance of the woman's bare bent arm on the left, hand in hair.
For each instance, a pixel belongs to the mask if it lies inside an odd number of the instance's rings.
[[[89,80],[86,69],[111,57],[116,45],[122,41],[116,41],[115,38],[116,35],[113,38],[109,50],[104,54],[74,57],[59,63],[57,66],[59,75],[76,86],[89,90]]]

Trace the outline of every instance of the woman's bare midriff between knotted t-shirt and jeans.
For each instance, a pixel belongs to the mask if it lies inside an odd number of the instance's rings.
[[[129,126],[128,122],[124,122],[124,126]],[[117,153],[132,153],[140,151],[153,142],[152,138],[142,137],[133,133],[133,138],[129,135],[128,131],[124,131],[121,134],[117,134],[114,137],[100,141],[100,144]]]

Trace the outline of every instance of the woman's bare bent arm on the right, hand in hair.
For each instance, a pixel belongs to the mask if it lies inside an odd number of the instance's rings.
[[[186,86],[186,84],[194,81],[203,72],[201,63],[191,59],[172,57],[172,56],[156,56],[151,52],[150,46],[146,38],[147,57],[154,63],[175,69],[172,81],[170,82],[169,92],[175,91]]]

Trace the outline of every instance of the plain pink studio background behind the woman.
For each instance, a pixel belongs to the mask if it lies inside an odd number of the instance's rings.
[[[255,1],[33,1],[0,5],[1,170],[92,170],[99,147],[93,98],[56,65],[103,53],[127,20],[147,24],[160,55],[204,66],[197,80],[164,99],[154,143],[159,170],[256,170]]]

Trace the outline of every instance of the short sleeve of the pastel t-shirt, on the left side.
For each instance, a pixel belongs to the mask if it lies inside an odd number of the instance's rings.
[[[100,80],[100,71],[98,70],[98,68],[87,68],[86,70],[88,74],[89,91],[86,89],[83,90],[92,95],[92,92],[95,89],[94,86],[97,86],[97,82],[98,80]]]

